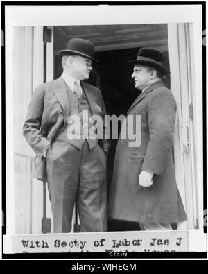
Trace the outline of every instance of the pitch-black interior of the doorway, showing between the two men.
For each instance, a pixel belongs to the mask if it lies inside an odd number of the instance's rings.
[[[99,61],[99,64],[93,65],[93,71],[86,82],[101,89],[108,115],[125,115],[130,105],[139,96],[140,92],[135,89],[135,83],[131,78],[133,66],[128,65],[128,60],[134,60],[138,51],[139,49],[119,49],[95,53],[94,58]],[[168,57],[168,53],[166,55]],[[58,55],[55,55],[54,68],[54,78],[58,78],[62,74],[61,58]],[[166,80],[166,85],[169,86],[169,79]],[[107,157],[108,190],[112,180],[116,144],[117,140],[110,139],[110,151]],[[108,230],[130,231],[140,230],[140,227],[139,223],[109,219]]]

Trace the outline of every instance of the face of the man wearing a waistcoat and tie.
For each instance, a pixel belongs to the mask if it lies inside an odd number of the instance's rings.
[[[73,56],[71,58],[71,76],[78,80],[89,78],[89,73],[92,71],[92,61],[81,56]]]

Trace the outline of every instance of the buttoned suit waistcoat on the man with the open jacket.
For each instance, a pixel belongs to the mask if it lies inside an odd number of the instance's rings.
[[[81,149],[83,143],[87,140],[89,148],[92,149],[98,144],[98,140],[94,139],[94,136],[90,134],[90,128],[94,126],[94,123],[89,123],[89,117],[92,116],[92,113],[85,91],[83,90],[81,98],[78,99],[78,96],[71,92],[69,86],[66,83],[65,85],[67,87],[70,115],[67,117],[67,126],[62,130],[60,135],[58,135],[57,139],[69,142],[78,149]],[[84,122],[83,119],[85,119]],[[94,132],[94,130],[92,130],[92,132]]]

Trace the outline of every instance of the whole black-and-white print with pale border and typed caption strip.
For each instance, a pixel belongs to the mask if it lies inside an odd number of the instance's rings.
[[[3,253],[206,252],[205,6],[4,5]]]

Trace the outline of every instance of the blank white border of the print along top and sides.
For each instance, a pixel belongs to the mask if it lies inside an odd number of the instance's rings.
[[[50,8],[50,12],[49,12]],[[107,14],[107,17],[105,16]],[[58,16],[60,15],[60,16]],[[148,15],[148,16],[147,16]],[[194,35],[194,63],[196,85],[202,90],[202,12],[200,5],[115,5],[115,6],[6,6],[5,10],[5,46],[6,46],[6,220],[7,235],[14,235],[14,131],[13,131],[13,27],[14,26],[61,26],[61,25],[101,25],[101,24],[162,24],[192,22]],[[202,98],[196,97],[196,112],[200,115]],[[203,128],[202,120],[198,128]],[[202,137],[202,136],[201,136]],[[203,153],[202,139],[197,140],[198,152]],[[197,169],[202,171],[198,177],[203,182],[202,159],[198,161]],[[200,212],[203,210],[202,194],[198,199]],[[203,217],[200,218],[200,224]],[[202,228],[202,225],[200,225]],[[114,232],[117,233],[117,232]],[[139,232],[138,232],[139,233]],[[191,231],[191,234],[200,231]],[[104,233],[105,234],[105,233]],[[191,237],[191,241],[195,241]],[[204,249],[204,247],[202,248]]]

